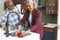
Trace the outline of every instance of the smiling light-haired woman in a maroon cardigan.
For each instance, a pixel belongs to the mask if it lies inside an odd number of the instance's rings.
[[[26,0],[26,12],[24,14],[23,19],[21,20],[18,30],[18,33],[21,30],[21,27],[25,24],[26,21],[29,23],[29,29],[27,31],[22,32],[22,36],[25,36],[28,32],[35,32],[40,34],[40,39],[43,37],[43,27],[42,27],[42,13],[35,6],[33,0]]]

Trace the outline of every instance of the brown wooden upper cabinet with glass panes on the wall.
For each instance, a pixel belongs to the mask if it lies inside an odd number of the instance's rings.
[[[58,0],[46,0],[46,13],[57,14]]]

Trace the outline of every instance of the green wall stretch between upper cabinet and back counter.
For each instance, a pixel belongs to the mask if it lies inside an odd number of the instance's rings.
[[[57,14],[46,14],[45,9],[42,9],[42,14],[43,23],[57,23]]]

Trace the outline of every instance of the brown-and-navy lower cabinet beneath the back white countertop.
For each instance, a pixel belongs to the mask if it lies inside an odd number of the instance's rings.
[[[43,30],[44,30],[44,36],[42,40],[56,40],[57,27],[55,28],[43,27]]]

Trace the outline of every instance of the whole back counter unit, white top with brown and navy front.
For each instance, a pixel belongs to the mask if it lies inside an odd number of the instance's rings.
[[[46,24],[43,26],[44,37],[43,40],[56,40],[57,39],[57,24]]]

